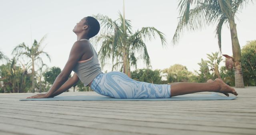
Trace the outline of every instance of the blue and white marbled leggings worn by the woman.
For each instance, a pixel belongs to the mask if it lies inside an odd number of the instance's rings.
[[[112,71],[97,75],[91,89],[114,98],[170,98],[171,85],[135,81],[122,72]]]

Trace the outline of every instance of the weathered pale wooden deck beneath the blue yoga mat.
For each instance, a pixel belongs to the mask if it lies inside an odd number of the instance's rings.
[[[34,93],[1,93],[0,134],[256,135],[256,87],[236,91],[235,100],[215,101],[19,101]]]

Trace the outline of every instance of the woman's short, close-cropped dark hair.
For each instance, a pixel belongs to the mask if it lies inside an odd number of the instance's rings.
[[[87,16],[85,24],[87,24],[89,26],[89,30],[88,30],[89,31],[88,32],[89,38],[92,38],[92,37],[94,37],[95,35],[97,35],[99,33],[100,23],[94,17]]]

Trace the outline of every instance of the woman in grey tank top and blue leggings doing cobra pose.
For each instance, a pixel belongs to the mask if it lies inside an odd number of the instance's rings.
[[[229,96],[228,93],[238,95],[234,88],[221,79],[208,80],[207,83],[182,82],[159,85],[135,81],[119,71],[102,73],[96,51],[89,42],[99,30],[99,22],[91,16],[78,22],[73,29],[77,41],[72,46],[68,62],[56,77],[52,87],[47,93],[27,98],[54,97],[72,87],[79,79],[97,93],[114,98],[170,98],[202,91],[220,92],[226,96]],[[68,79],[72,71],[75,73]]]

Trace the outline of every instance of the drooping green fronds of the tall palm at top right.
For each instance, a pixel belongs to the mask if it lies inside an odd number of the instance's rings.
[[[216,24],[216,37],[221,50],[222,26],[233,20],[235,14],[253,0],[179,0],[180,18],[172,38],[176,44],[184,29],[201,30]]]

